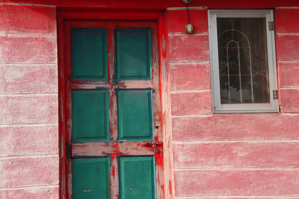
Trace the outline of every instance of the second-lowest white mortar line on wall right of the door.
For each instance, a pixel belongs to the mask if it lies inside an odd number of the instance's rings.
[[[299,170],[299,168],[283,168],[283,167],[278,167],[278,168],[263,168],[263,167],[242,167],[242,168],[223,168],[223,167],[196,167],[196,168],[184,168],[184,169],[173,169],[174,171],[198,171],[198,170]]]

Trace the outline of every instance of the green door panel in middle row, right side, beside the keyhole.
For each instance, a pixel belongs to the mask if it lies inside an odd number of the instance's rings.
[[[152,90],[117,90],[120,140],[153,139]]]

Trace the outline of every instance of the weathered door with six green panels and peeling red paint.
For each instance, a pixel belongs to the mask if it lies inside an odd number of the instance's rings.
[[[156,21],[65,21],[71,198],[164,198]]]

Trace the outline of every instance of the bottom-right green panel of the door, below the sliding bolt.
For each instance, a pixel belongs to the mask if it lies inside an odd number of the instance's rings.
[[[120,157],[119,187],[121,199],[155,199],[154,157]]]

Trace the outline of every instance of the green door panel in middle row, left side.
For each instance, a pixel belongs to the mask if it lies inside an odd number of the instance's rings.
[[[73,141],[106,141],[109,136],[108,90],[72,90]]]

